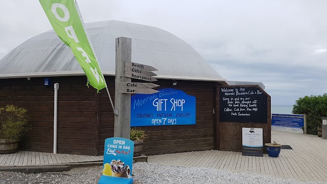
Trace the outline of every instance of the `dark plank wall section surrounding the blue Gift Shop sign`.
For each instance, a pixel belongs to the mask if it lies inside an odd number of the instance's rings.
[[[106,79],[108,81],[108,79]],[[107,82],[108,83],[108,82]],[[158,80],[158,88],[181,89],[196,97],[196,125],[142,127],[148,138],[144,142],[146,155],[215,149],[215,98],[216,82]],[[114,86],[109,86],[113,91]],[[112,96],[112,94],[111,94]],[[113,136],[113,111],[106,93],[101,93],[100,152],[104,140]]]

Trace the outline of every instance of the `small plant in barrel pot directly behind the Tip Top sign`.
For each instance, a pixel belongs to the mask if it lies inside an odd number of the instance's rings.
[[[145,131],[141,128],[131,129],[131,140],[134,142],[134,157],[142,155],[143,140],[146,137]]]

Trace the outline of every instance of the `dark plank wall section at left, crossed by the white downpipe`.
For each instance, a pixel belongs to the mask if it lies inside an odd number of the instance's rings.
[[[0,106],[13,104],[28,110],[30,130],[22,137],[22,150],[53,152],[54,87],[58,91],[58,153],[95,155],[96,90],[85,76],[0,79]]]

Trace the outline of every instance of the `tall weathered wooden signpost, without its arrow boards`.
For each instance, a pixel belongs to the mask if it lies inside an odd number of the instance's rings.
[[[125,77],[125,62],[131,61],[132,40],[131,38],[116,38],[116,75],[114,107],[116,115],[114,116],[115,137],[130,139],[130,119],[131,119],[131,95],[120,93],[123,82],[131,82],[132,79]]]

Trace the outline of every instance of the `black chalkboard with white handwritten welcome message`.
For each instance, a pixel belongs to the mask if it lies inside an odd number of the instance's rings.
[[[255,86],[219,88],[221,122],[267,123],[267,95]]]

